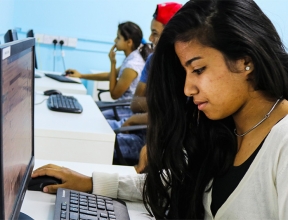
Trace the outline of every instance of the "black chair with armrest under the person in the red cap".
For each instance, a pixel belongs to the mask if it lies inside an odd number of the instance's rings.
[[[134,166],[135,164],[138,163],[138,160],[129,160],[123,157],[123,154],[121,152],[121,149],[117,141],[117,134],[121,132],[137,131],[137,130],[147,130],[147,125],[126,126],[126,127],[121,127],[121,128],[117,128],[114,130],[116,134],[114,148],[117,154],[117,160],[113,159],[114,165]]]

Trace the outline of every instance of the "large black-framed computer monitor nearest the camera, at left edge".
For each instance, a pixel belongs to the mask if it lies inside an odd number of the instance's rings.
[[[34,167],[34,45],[0,45],[0,219],[18,219]]]

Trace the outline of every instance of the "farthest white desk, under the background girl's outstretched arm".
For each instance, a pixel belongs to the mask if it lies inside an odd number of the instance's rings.
[[[45,90],[50,90],[50,89],[56,89],[61,91],[62,93],[71,93],[71,94],[87,94],[87,89],[85,86],[80,83],[63,83],[63,82],[58,82],[57,80],[51,79],[47,76],[44,75],[45,73],[53,73],[53,74],[58,74],[61,75],[62,73],[60,72],[50,72],[50,71],[40,71],[37,70],[37,74],[41,76],[41,78],[35,78],[35,91],[45,91]],[[69,77],[77,82],[81,82],[79,78],[72,78]]]

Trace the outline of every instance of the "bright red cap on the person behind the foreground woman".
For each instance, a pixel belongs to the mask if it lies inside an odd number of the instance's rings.
[[[166,25],[181,7],[182,5],[176,2],[165,2],[158,4],[156,8],[156,16],[154,16],[154,18]]]

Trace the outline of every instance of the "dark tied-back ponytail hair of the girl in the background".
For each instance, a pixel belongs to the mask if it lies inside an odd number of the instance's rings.
[[[142,38],[143,38],[143,33],[142,33],[141,28],[137,24],[131,21],[127,21],[127,22],[119,24],[118,30],[125,40],[131,39],[133,41],[132,50],[136,50],[139,48],[139,52],[141,56],[146,61],[148,55],[151,52],[153,52],[153,49],[151,48],[151,44],[141,45]]]

